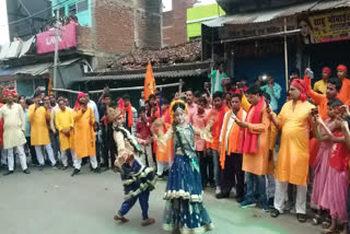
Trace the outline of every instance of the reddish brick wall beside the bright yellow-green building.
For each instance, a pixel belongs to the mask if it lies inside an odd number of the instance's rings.
[[[173,10],[163,13],[163,44],[176,45],[187,42],[186,11],[194,0],[173,0]]]

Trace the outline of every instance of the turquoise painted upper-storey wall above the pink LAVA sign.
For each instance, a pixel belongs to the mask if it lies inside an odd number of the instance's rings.
[[[60,0],[60,8],[65,8],[66,16],[69,14],[69,7],[80,2],[81,0]],[[91,1],[88,0],[88,10],[75,14],[79,23],[82,26],[91,26]],[[94,1],[94,0],[93,0]],[[52,0],[52,15],[54,11],[57,9],[57,0]]]

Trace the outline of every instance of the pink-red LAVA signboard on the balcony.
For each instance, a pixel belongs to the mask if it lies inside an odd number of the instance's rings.
[[[55,51],[56,30],[36,35],[37,54]],[[62,26],[58,33],[58,50],[77,47],[75,23]]]

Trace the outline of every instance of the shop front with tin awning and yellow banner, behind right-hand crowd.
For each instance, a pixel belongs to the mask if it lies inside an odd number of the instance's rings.
[[[342,0],[307,1],[221,16],[202,24],[202,57],[223,60],[234,81],[272,75],[283,89],[281,106],[291,71],[311,67],[318,75],[323,66],[348,62],[349,8]]]

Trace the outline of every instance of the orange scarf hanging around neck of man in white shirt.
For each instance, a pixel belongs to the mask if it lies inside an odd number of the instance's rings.
[[[228,129],[229,119],[231,118],[232,110],[228,112],[228,115],[223,121],[223,128],[222,128],[222,141],[221,141],[221,149],[220,149],[220,166],[222,169],[225,168],[225,157],[226,157],[226,132],[229,133],[229,147],[228,147],[228,153],[231,155],[231,153],[237,152],[240,148],[240,139],[242,137],[242,129],[240,126],[234,122],[231,129]],[[237,113],[237,119],[242,120],[243,117],[243,109],[240,108],[240,112]]]

